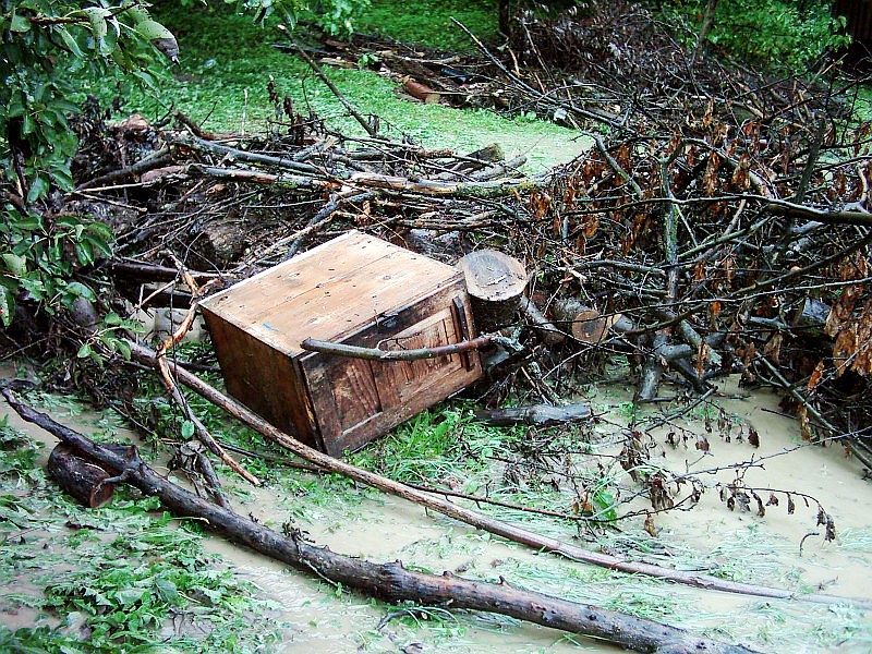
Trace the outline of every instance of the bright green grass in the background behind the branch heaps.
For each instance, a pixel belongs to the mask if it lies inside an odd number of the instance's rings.
[[[486,4],[473,3],[468,10]],[[410,5],[404,14],[393,12],[393,22],[382,21],[379,12],[388,12],[387,7],[384,2],[374,3],[371,12],[375,13],[367,14],[365,20],[384,25],[391,36],[397,25],[412,19],[414,24],[440,37],[449,33],[445,25],[437,28],[436,23],[431,24],[435,19],[423,13],[426,8],[417,5]],[[460,3],[447,7],[460,7]],[[479,13],[477,23],[471,21],[473,26],[483,21],[484,14]],[[332,129],[363,134],[361,126],[303,62],[272,47],[272,44],[287,45],[275,27],[261,28],[250,16],[237,15],[218,4],[187,9],[162,7],[158,17],[179,39],[181,64],[172,71],[172,76],[160,77],[159,93],[125,90],[126,111],[140,111],[156,120],[175,107],[202,122],[207,130],[264,131],[267,121],[275,117],[266,88],[272,78],[279,95],[291,97],[299,112],[305,114],[311,109]],[[400,31],[396,36],[403,34]],[[578,137],[576,132],[530,114],[504,118],[482,109],[460,110],[412,102],[397,95],[397,84],[371,70],[330,66],[324,70],[361,112],[380,117],[385,133],[393,137],[408,134],[425,146],[450,147],[458,152],[471,152],[499,142],[509,157],[528,154],[531,170],[566,161],[585,147],[584,143],[573,141]],[[108,99],[113,93],[113,88],[107,88],[101,95]]]

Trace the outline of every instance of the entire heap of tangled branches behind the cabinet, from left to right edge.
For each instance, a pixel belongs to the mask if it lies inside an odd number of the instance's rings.
[[[833,71],[824,85],[724,69],[641,29],[635,4],[620,23],[632,65],[618,65],[601,46],[620,7],[596,7],[523,24],[540,69],[479,44],[476,75],[586,129],[590,152],[537,178],[498,147],[390,138],[348,105],[367,135],[331,132],[271,86],[264,135],[210,134],[178,112],[107,128],[94,111],[64,210],[105,216],[118,235],[105,262],[118,296],[99,308],[186,306],[183,288],[154,288],[177,259],[226,286],[351,228],[448,262],[487,244],[536,271],[535,325],[516,338],[545,363],[524,376],[545,400],[574,392],[567,362],[616,353],[640,401],[663,399],[664,375],[707,397],[740,374],[784,389],[807,437],[843,439],[872,468],[869,125],[849,120]],[[573,34],[592,47],[583,71],[547,60]],[[594,82],[568,83],[582,72]],[[541,346],[543,320],[559,343]]]

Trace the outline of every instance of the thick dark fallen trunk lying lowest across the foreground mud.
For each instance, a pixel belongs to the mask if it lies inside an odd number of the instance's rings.
[[[408,570],[401,561],[375,564],[318,547],[301,533],[284,536],[250,518],[206,501],[158,475],[140,458],[135,448],[120,456],[51,420],[45,413],[21,403],[8,389],[3,396],[26,421],[60,438],[70,447],[99,461],[123,481],[146,495],[156,496],[177,516],[198,518],[211,530],[233,543],[288,564],[319,579],[353,588],[377,597],[424,605],[483,610],[526,620],[543,627],[607,640],[637,652],[706,652],[710,654],[748,654],[743,645],[698,638],[682,629],[637,618],[628,614],[569,602],[552,595],[524,591],[505,581],[495,584],[473,581],[445,572],[441,576]]]

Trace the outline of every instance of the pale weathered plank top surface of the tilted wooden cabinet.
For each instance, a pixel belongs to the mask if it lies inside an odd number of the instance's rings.
[[[292,356],[306,338],[341,340],[463,274],[387,241],[348,232],[210,295],[201,306]]]

